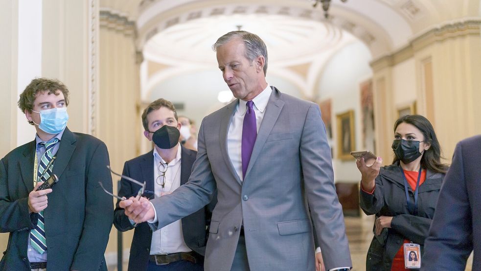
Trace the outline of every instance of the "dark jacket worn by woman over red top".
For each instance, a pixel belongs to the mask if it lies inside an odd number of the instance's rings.
[[[361,189],[360,205],[366,215],[393,217],[391,228],[387,229],[387,237],[384,240],[372,238],[367,251],[366,271],[390,271],[392,260],[401,248],[404,239],[421,245],[422,253],[443,177],[443,173],[429,170],[426,172],[426,180],[418,188],[417,216],[411,215],[408,211],[399,162],[381,168],[376,177],[376,187],[372,195]],[[408,191],[411,202],[414,202],[411,187],[408,188]]]

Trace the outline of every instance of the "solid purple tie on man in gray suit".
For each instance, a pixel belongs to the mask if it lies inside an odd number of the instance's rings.
[[[255,138],[257,137],[257,124],[255,122],[255,112],[252,108],[254,102],[247,101],[247,111],[242,124],[242,177],[246,176],[247,166],[251,160],[252,148],[254,148]]]

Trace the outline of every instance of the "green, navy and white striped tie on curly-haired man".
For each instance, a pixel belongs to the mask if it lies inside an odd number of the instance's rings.
[[[58,138],[53,138],[51,141],[45,143],[41,142],[39,143],[40,146],[45,147],[45,153],[42,155],[40,158],[40,161],[38,163],[38,181],[39,182],[45,182],[48,177],[52,174],[52,168],[53,168],[53,163],[50,165],[50,167],[45,171],[48,163],[50,160],[52,160],[53,153],[52,149],[55,146],[55,144],[58,142]],[[45,171],[44,175],[41,175]],[[39,212],[39,219],[35,227],[30,230],[30,244],[40,253],[44,254],[44,252],[47,250],[47,242],[45,238],[45,224],[44,224],[44,211]]]

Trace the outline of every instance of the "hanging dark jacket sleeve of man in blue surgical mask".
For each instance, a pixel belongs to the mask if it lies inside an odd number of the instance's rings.
[[[89,158],[87,158],[89,159]],[[103,142],[98,144],[90,158],[86,180],[85,221],[79,246],[75,252],[71,270],[98,270],[104,260],[105,248],[112,228],[114,203],[112,196],[100,185],[112,192],[112,175],[109,153]]]

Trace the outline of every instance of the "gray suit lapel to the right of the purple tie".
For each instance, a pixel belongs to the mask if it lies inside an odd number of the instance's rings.
[[[271,97],[269,98],[269,102],[267,103],[266,113],[264,114],[264,118],[262,119],[262,123],[260,124],[259,132],[257,133],[257,138],[255,139],[254,143],[254,148],[252,148],[251,160],[249,161],[246,177],[244,179],[247,179],[247,177],[249,176],[249,172],[255,164],[255,160],[257,159],[260,151],[264,147],[267,137],[271,133],[271,130],[274,127],[274,124],[277,121],[280,112],[282,111],[282,107],[284,107],[284,101],[279,99],[280,92],[275,87],[272,88],[273,90],[271,93]]]

